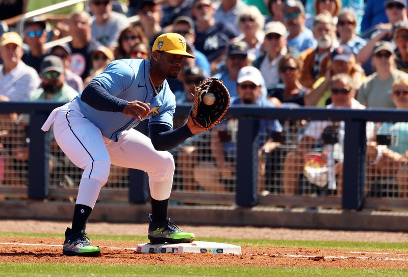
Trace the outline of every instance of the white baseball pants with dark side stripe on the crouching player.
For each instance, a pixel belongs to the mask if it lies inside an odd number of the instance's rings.
[[[72,163],[84,170],[77,204],[93,208],[100,188],[108,180],[111,164],[147,172],[151,197],[156,200],[170,197],[175,168],[173,156],[167,151],[155,150],[149,137],[130,129],[123,131],[114,142],[81,114],[75,101],[57,108],[42,130],[48,130],[53,121],[58,145]]]

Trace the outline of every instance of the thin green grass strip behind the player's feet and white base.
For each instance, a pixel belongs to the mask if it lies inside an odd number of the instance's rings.
[[[59,238],[63,234],[42,233],[15,233],[0,232],[0,237],[30,237],[30,238]],[[90,235],[93,240],[111,240],[126,242],[147,242],[146,236],[124,235]],[[307,247],[307,248],[336,248],[366,251],[408,251],[408,242],[350,242],[350,241],[318,241],[318,240],[272,240],[272,239],[228,239],[228,238],[203,238],[196,240],[231,243],[240,246],[282,246],[282,247]]]

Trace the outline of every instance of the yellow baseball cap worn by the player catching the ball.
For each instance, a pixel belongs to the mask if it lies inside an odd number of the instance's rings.
[[[165,51],[166,53],[182,55],[187,58],[195,57],[187,51],[187,42],[184,37],[176,33],[166,33],[160,35],[153,44],[152,51]]]

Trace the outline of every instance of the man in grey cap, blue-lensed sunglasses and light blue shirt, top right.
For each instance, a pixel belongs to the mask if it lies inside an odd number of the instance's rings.
[[[288,0],[283,7],[284,23],[288,29],[288,47],[291,52],[300,53],[310,47],[316,47],[317,42],[305,26],[303,4],[299,0]]]

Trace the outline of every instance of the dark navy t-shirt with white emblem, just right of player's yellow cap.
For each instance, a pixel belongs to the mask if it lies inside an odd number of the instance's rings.
[[[211,63],[222,54],[231,39],[237,36],[238,34],[231,27],[217,22],[204,32],[196,31],[194,46],[195,49],[205,54]]]

